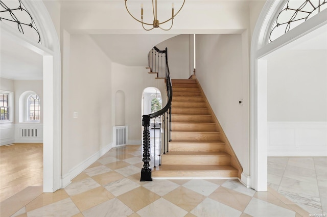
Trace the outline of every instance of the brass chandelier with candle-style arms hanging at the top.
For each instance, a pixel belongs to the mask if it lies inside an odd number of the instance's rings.
[[[174,23],[174,17],[179,13],[179,11],[183,8],[184,6],[184,3],[185,3],[185,0],[183,0],[183,4],[182,6],[180,7],[180,9],[178,10],[178,12],[176,14],[174,14],[174,3],[172,4],[172,16],[171,18],[169,18],[168,20],[166,21],[163,21],[163,22],[159,22],[159,20],[157,19],[157,0],[152,0],[152,10],[153,10],[153,23],[147,23],[147,22],[143,22],[143,4],[141,5],[141,20],[139,19],[136,19],[128,10],[127,8],[127,0],[125,0],[125,7],[126,7],[126,10],[127,12],[129,13],[129,15],[131,15],[131,17],[133,17],[136,21],[138,22],[141,22],[142,23],[142,27],[144,30],[146,31],[150,31],[150,30],[153,30],[154,28],[160,28],[161,30],[165,30],[165,31],[168,31],[170,29],[172,29],[172,26],[173,26],[173,23]],[[160,24],[163,24],[163,23],[166,23],[168,21],[172,21],[171,23],[171,26],[169,29],[164,29],[164,28],[161,28],[160,27]],[[153,27],[150,28],[150,29],[146,29],[144,27],[144,25],[152,25]]]

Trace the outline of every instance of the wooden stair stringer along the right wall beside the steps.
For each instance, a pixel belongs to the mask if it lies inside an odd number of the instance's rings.
[[[209,113],[212,115],[213,121],[216,124],[216,128],[220,132],[220,140],[225,143],[225,152],[228,153],[231,156],[230,165],[238,170],[238,178],[241,179],[241,175],[243,173],[242,165],[241,165],[239,159],[237,158],[233,148],[231,147],[231,145],[229,143],[229,140],[227,139],[227,136],[226,136],[223,128],[221,127],[221,125],[220,125],[220,123],[219,123],[219,121],[218,121],[212,107],[210,106],[210,103],[209,103],[208,99],[206,98],[198,79],[195,78],[195,80],[196,80],[196,83],[198,84],[200,92],[201,92],[201,94],[203,96],[204,102],[207,105]]]

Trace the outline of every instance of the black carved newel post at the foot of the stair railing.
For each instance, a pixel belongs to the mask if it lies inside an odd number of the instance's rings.
[[[150,162],[150,115],[142,116],[142,126],[143,130],[143,168],[141,170],[141,180],[140,181],[152,181]]]

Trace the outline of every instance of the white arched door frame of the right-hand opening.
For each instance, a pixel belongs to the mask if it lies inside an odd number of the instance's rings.
[[[267,37],[282,4],[283,1],[266,2],[251,42],[250,173],[251,187],[256,191],[267,191],[267,69],[261,58],[327,23],[324,10],[268,44]]]

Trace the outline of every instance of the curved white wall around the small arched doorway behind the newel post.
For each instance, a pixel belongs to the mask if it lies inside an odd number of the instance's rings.
[[[147,58],[145,56],[145,58]],[[121,90],[126,96],[126,125],[128,126],[129,144],[140,144],[142,137],[142,94],[145,88],[155,87],[166,93],[164,79],[155,79],[155,74],[148,74],[145,67],[124,66],[112,63],[112,93]],[[114,96],[112,95],[114,107]],[[166,105],[162,95],[162,104]],[[115,121],[113,120],[113,124]]]

